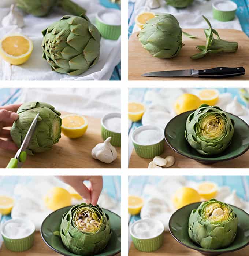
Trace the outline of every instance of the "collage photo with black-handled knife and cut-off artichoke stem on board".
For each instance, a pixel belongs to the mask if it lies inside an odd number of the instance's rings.
[[[249,80],[247,0],[129,0],[128,9],[129,80]]]

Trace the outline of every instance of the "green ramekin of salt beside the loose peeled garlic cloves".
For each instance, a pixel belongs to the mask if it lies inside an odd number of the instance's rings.
[[[148,130],[148,129],[158,130],[158,132],[160,132],[162,134],[162,139],[158,143],[152,144],[152,145],[145,145],[145,144],[137,143],[135,141],[135,135],[142,130]],[[131,140],[134,145],[135,152],[137,153],[138,156],[140,156],[142,158],[154,158],[155,156],[159,156],[163,153],[164,132],[159,127],[152,126],[152,125],[140,126],[137,129],[135,129],[133,131],[133,133],[131,134]]]

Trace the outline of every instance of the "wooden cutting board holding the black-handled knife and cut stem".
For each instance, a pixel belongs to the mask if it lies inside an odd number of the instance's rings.
[[[129,39],[129,80],[204,80],[195,77],[145,77],[144,73],[178,69],[208,69],[215,67],[239,67],[244,66],[246,74],[228,78],[233,80],[249,80],[249,38],[239,30],[217,29],[223,40],[236,41],[239,44],[236,53],[209,54],[199,60],[192,60],[190,56],[200,52],[197,45],[205,45],[203,29],[183,29],[183,31],[195,35],[197,39],[190,39],[183,35],[183,43],[180,54],[171,59],[155,58],[142,48],[138,41],[138,32]]]

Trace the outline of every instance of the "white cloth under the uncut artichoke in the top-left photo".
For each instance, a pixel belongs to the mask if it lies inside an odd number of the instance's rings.
[[[87,16],[95,24],[96,13],[106,9],[98,0],[74,0],[87,10]],[[9,12],[9,8],[0,8],[0,21]],[[42,58],[42,33],[41,31],[58,21],[63,11],[56,9],[47,17],[34,17],[25,15],[25,27],[17,29],[14,26],[0,27],[0,38],[9,33],[21,32],[28,36],[34,44],[34,50],[30,59],[20,65],[10,65],[0,59],[1,80],[109,80],[116,65],[121,60],[121,40],[112,41],[102,38],[100,58],[96,65],[79,76],[69,76],[52,71],[51,66]],[[1,26],[1,25],[0,25]]]

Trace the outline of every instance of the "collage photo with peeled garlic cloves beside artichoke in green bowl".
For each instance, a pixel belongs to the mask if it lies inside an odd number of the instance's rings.
[[[130,88],[129,168],[248,168],[248,88]]]

